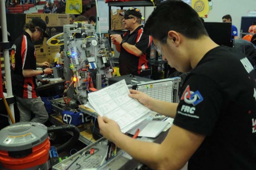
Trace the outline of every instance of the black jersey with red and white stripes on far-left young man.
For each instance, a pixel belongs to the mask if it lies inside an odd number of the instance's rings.
[[[36,50],[31,37],[24,32],[15,40],[11,49],[11,79],[13,94],[20,98],[36,98],[36,80],[34,77],[24,77],[22,70],[36,70]]]

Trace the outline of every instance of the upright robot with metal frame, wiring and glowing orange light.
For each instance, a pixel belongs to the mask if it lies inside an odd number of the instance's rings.
[[[74,101],[86,104],[87,93],[108,86],[113,75],[110,44],[106,37],[96,35],[92,24],[84,22],[64,25],[63,33],[64,77],[69,82],[63,100],[67,105]]]

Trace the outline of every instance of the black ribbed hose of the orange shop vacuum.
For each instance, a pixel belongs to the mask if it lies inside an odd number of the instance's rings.
[[[69,141],[67,141],[65,144],[59,146],[58,148],[56,148],[57,152],[59,152],[59,153],[63,152],[67,147],[73,146],[77,142],[79,135],[80,135],[80,131],[75,125],[62,125],[62,126],[57,126],[57,127],[48,127],[47,131],[48,131],[48,133],[49,132],[61,132],[61,131],[73,132],[73,136]]]

